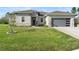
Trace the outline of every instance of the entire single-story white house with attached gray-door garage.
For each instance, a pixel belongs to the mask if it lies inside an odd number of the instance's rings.
[[[14,16],[12,16],[14,15]],[[35,10],[18,11],[9,14],[9,21],[15,20],[16,26],[74,27],[74,17],[69,12],[39,12]]]

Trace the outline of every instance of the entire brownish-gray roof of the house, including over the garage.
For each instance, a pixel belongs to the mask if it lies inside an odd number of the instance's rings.
[[[76,14],[69,13],[69,12],[64,12],[64,11],[54,11],[54,12],[47,13],[47,12],[36,11],[36,10],[15,11],[15,12],[12,12],[10,14],[22,14],[22,13],[40,13],[40,14],[47,15],[47,16],[53,16],[53,15],[55,15],[55,16],[57,16],[57,15],[72,15],[72,16],[76,16]]]

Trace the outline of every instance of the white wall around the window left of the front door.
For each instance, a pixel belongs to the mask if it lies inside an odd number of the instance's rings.
[[[24,17],[24,22],[22,22],[22,17]],[[16,15],[16,26],[31,26],[31,16],[27,14],[17,14]]]

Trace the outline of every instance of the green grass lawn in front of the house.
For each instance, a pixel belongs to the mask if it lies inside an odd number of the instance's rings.
[[[79,48],[79,40],[55,29],[16,27],[7,35],[8,25],[0,24],[1,51],[70,51]]]

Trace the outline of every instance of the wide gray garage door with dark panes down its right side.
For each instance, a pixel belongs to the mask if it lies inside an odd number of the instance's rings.
[[[53,18],[52,25],[54,27],[66,27],[70,26],[70,19],[69,18]]]

